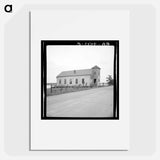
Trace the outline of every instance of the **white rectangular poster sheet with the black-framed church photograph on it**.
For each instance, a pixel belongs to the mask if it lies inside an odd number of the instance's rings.
[[[129,12],[30,12],[30,150],[129,149]]]

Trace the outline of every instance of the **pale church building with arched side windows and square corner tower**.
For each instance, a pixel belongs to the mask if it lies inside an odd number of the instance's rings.
[[[100,68],[63,71],[57,77],[57,86],[98,86]]]

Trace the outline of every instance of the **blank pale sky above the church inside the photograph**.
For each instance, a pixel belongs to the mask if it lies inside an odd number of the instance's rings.
[[[100,82],[113,77],[113,46],[47,46],[47,83],[56,83],[56,76],[62,71],[91,69],[97,65],[100,70]]]

